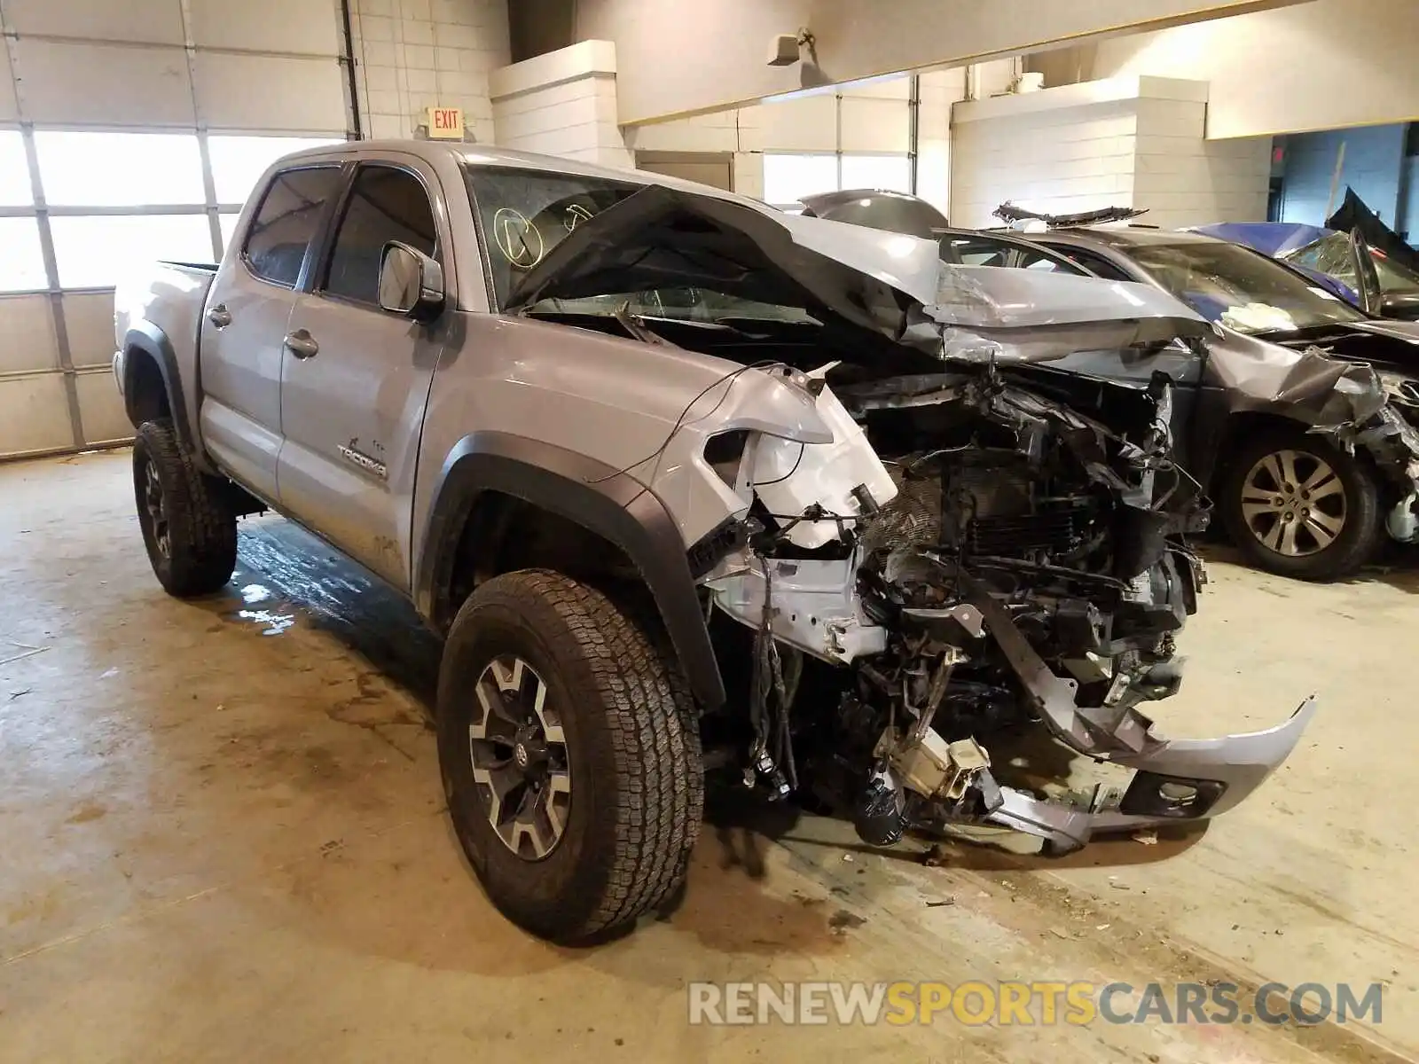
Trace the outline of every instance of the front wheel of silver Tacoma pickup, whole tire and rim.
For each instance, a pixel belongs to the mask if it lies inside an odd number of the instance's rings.
[[[603,593],[528,569],[458,610],[438,675],[454,830],[498,909],[586,942],[681,885],[704,810],[673,655]]]

